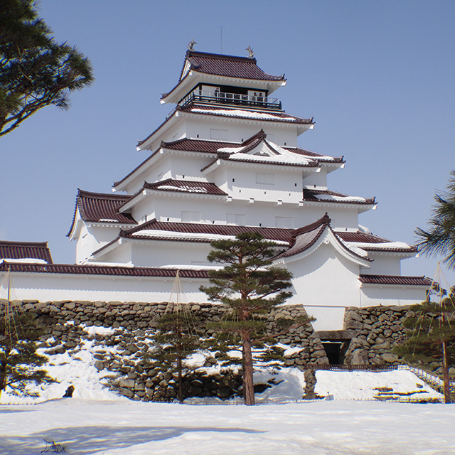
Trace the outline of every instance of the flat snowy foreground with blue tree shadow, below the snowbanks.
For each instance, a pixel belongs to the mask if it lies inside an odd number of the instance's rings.
[[[59,399],[0,406],[0,453],[33,455],[43,439],[69,454],[455,454],[455,405],[319,400],[177,405]]]

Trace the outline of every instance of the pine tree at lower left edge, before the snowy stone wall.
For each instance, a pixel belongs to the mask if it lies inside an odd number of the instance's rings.
[[[27,390],[36,385],[53,382],[41,367],[46,358],[36,352],[36,341],[42,331],[28,316],[5,311],[0,317],[0,393],[9,387],[14,395],[37,396]]]

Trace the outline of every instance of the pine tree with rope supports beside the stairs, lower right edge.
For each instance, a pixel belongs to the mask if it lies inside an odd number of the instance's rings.
[[[404,325],[407,339],[394,352],[409,363],[442,363],[444,401],[451,402],[449,367],[455,365],[455,287],[441,303],[424,301],[411,307]]]

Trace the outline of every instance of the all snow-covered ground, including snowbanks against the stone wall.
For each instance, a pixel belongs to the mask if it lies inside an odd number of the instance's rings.
[[[303,373],[263,368],[255,382],[273,378],[276,385],[256,395],[255,407],[203,399],[146,403],[103,386],[109,372],[95,368],[95,350],[85,340],[77,352],[51,355],[45,368],[58,382],[36,388],[35,400],[1,395],[0,455],[40,454],[44,439],[80,455],[455,454],[455,405],[373,400],[378,387],[402,399],[441,398],[406,370],[318,371],[316,393],[333,400],[301,401]],[[198,361],[202,354],[193,366]],[[71,384],[73,398],[62,399]]]

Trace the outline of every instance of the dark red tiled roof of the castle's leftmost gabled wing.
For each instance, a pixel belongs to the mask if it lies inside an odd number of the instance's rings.
[[[79,190],[76,196],[73,223],[71,223],[67,236],[73,230],[77,210],[79,210],[82,220],[87,222],[136,224],[129,213],[118,212],[118,208],[131,198],[132,196],[127,195],[91,193],[90,191]]]

